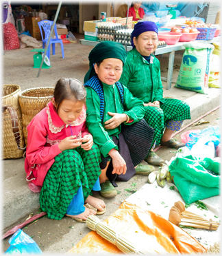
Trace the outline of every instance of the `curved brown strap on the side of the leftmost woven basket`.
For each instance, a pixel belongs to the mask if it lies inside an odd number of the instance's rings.
[[[8,110],[8,112],[11,116],[12,131],[14,133],[14,138],[16,140],[17,147],[18,147],[18,149],[24,150],[26,148],[26,146],[23,148],[20,147],[21,137],[20,137],[20,133],[19,133],[19,129],[18,129],[18,115],[16,113],[16,110],[13,107],[11,107],[10,105],[5,105],[2,107],[2,112],[4,112],[6,109]]]

